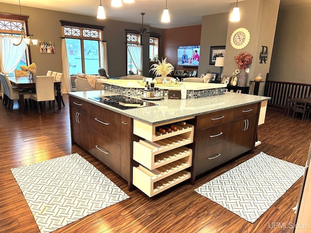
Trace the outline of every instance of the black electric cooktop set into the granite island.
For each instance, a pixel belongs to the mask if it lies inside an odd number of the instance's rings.
[[[150,107],[150,106],[157,105],[152,102],[138,100],[138,99],[135,99],[129,96],[123,96],[123,95],[98,96],[98,97],[90,97],[89,99],[110,105],[115,108],[119,108],[121,110]]]

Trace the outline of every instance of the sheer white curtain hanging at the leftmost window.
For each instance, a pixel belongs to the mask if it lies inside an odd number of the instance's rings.
[[[0,34],[0,72],[4,74],[9,74],[16,69],[26,50],[24,40],[20,45],[15,46],[11,38],[16,38],[16,36]],[[19,40],[21,37],[17,38]]]

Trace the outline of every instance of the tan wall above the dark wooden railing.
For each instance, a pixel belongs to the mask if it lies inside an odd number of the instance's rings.
[[[310,4],[284,9],[280,5],[269,80],[311,83],[310,22]]]

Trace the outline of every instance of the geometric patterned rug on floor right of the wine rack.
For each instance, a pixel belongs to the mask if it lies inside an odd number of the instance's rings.
[[[260,152],[194,191],[254,223],[304,170],[303,166]]]

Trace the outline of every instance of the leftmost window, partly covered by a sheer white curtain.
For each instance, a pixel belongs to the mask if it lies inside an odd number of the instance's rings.
[[[17,16],[17,15],[6,15],[0,14],[0,33],[3,34],[11,34],[11,35],[20,35],[21,27],[24,26],[25,33],[28,34],[28,25],[27,25],[28,17],[25,16]],[[20,69],[20,66],[26,66],[31,63],[31,59],[29,57],[29,49],[25,50],[24,55],[20,59],[16,69]],[[14,76],[14,72],[7,74],[7,76]]]

